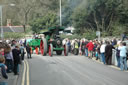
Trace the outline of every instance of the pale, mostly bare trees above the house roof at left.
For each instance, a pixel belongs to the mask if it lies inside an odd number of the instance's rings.
[[[29,21],[49,11],[59,11],[59,0],[3,0],[0,3],[14,3],[15,7],[4,7],[4,21],[12,19],[13,25],[28,25]],[[6,22],[4,22],[5,24]]]

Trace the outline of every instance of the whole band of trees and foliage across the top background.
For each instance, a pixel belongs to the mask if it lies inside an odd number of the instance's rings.
[[[4,25],[7,19],[12,19],[12,25],[28,25],[30,22],[36,33],[58,25],[59,0],[0,1],[3,5],[12,2],[15,7],[4,7]],[[73,25],[75,33],[81,36],[87,30],[101,31],[102,36],[128,33],[128,0],[62,0],[62,25]]]

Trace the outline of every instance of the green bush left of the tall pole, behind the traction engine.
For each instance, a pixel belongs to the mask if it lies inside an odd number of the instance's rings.
[[[54,13],[47,13],[45,16],[37,18],[30,22],[34,33],[39,33],[42,29],[48,29],[57,25],[57,16]]]

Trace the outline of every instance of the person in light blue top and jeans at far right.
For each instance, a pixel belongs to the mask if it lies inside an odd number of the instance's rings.
[[[120,50],[120,69],[121,71],[127,70],[127,48],[126,43],[121,43],[121,47],[118,48]]]

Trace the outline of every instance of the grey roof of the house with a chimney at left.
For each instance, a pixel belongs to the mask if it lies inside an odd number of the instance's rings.
[[[0,26],[1,30],[1,26]],[[3,26],[4,32],[24,32],[23,26]]]

